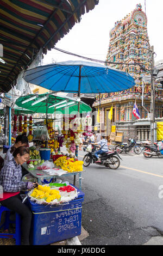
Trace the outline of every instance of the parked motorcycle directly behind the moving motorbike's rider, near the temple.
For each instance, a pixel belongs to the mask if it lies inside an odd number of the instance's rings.
[[[124,145],[123,143],[118,143],[115,145],[115,150],[118,151],[119,154],[122,152],[125,152],[126,154],[131,151],[131,149],[134,148],[135,154],[139,155],[141,153],[141,148],[136,144],[135,139],[128,139],[130,142],[129,145]]]

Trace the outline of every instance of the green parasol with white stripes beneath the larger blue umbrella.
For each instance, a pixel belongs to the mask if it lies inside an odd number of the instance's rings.
[[[37,101],[38,103],[35,103]],[[29,109],[34,113],[46,113],[47,111],[47,114],[53,114],[55,111],[55,113],[59,114],[74,114],[78,112],[78,101],[76,99],[67,96],[60,97],[47,93],[39,94],[38,97],[36,97],[36,94],[19,97],[16,100],[16,105],[21,108]],[[91,112],[91,110],[92,109],[89,105],[82,101],[80,102],[80,113]]]

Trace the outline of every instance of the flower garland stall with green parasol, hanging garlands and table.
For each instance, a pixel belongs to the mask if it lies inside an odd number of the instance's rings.
[[[47,180],[56,180],[62,176],[74,176],[73,184],[76,185],[76,175],[79,177],[79,189],[82,188],[83,162],[78,161],[75,155],[80,144],[80,135],[87,130],[91,130],[91,118],[85,117],[78,119],[78,100],[71,97],[60,97],[54,94],[27,95],[17,99],[16,105],[37,113],[61,113],[62,130],[60,135],[55,135],[55,119],[46,118],[43,127],[37,126],[33,130],[33,117],[24,116],[24,119],[14,117],[19,120],[17,127],[16,121],[14,131],[27,133],[29,141],[34,142],[34,147],[30,147],[30,160],[23,164],[23,167],[39,182],[43,184]],[[84,102],[80,102],[80,113],[90,112],[91,108]],[[70,113],[72,117],[67,115]],[[86,115],[86,114],[85,114]],[[27,120],[28,119],[28,120]],[[23,126],[22,126],[23,125]],[[21,127],[20,127],[21,126]],[[28,126],[28,129],[27,129]],[[27,130],[29,130],[27,132]],[[61,153],[62,146],[65,145],[67,153]],[[45,169],[40,169],[41,160],[47,163]],[[51,163],[54,166],[51,166]],[[50,170],[49,170],[50,169]],[[27,176],[27,178],[30,176]]]

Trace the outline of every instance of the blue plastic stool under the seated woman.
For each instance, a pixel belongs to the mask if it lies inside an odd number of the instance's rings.
[[[1,215],[2,215],[3,211],[6,211],[5,222],[0,226],[0,229],[2,227],[4,227],[4,230],[9,229],[10,223],[15,223],[16,227],[15,227],[15,233],[0,233],[0,237],[8,238],[8,239],[15,239],[16,245],[21,245],[21,218],[20,218],[20,215],[16,213],[16,220],[10,221],[9,217],[10,217],[11,210],[5,206],[0,205],[0,220],[1,220]]]

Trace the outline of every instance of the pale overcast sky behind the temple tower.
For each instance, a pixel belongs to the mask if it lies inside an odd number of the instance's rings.
[[[109,47],[109,31],[116,21],[120,21],[141,3],[145,12],[145,0],[99,0],[99,4],[89,13],[82,15],[71,31],[55,45],[57,48],[85,57],[105,60]],[[154,46],[155,62],[163,59],[162,0],[146,0],[146,15],[149,43]],[[48,51],[43,64],[66,60],[82,60],[57,50]]]

